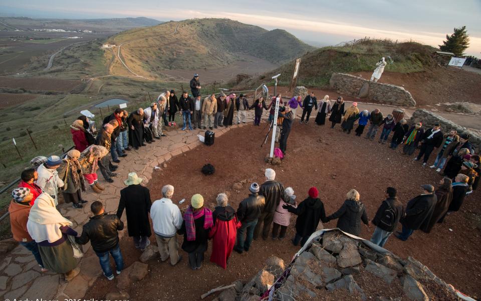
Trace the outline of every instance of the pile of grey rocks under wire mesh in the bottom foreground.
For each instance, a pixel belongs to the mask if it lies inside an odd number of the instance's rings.
[[[261,270],[234,299],[259,300],[271,289],[272,299],[283,301],[460,300],[451,285],[415,259],[402,260],[338,230],[320,234],[285,270],[282,260],[269,260],[266,266],[275,271]]]

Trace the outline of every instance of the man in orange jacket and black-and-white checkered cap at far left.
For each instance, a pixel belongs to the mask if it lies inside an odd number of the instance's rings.
[[[37,263],[42,268],[42,272],[47,271],[44,268],[42,257],[40,256],[39,246],[32,239],[27,231],[27,221],[29,220],[30,209],[34,195],[30,189],[26,187],[16,188],[12,191],[12,202],[10,203],[10,226],[14,239],[23,245],[27,250],[31,251],[37,260]]]

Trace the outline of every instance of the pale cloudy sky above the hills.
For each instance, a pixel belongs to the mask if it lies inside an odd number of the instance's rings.
[[[159,21],[228,18],[284,29],[314,46],[364,37],[413,40],[434,47],[466,26],[466,55],[481,57],[481,0],[0,0],[0,15],[31,18],[147,17]]]

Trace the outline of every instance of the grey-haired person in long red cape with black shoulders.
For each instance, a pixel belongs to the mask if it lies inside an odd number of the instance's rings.
[[[217,207],[212,213],[214,226],[209,233],[209,238],[212,239],[210,261],[225,269],[227,259],[235,245],[235,237],[237,228],[240,228],[240,222],[237,220],[235,210],[228,205],[226,194],[219,193],[216,201]]]

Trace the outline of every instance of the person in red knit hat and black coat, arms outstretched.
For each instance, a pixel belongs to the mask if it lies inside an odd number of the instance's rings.
[[[287,211],[297,215],[296,220],[296,236],[292,243],[297,246],[299,242],[304,245],[309,236],[314,233],[319,225],[319,221],[327,222],[324,204],[318,198],[319,191],[315,187],[311,187],[308,191],[309,197],[302,201],[299,206],[294,207],[284,204],[282,207]]]

